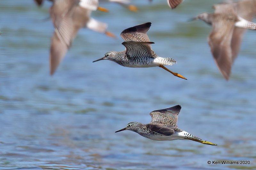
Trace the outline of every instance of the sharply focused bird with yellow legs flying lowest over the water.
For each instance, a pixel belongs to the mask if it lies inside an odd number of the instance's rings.
[[[131,122],[127,126],[119,131],[129,130],[139,133],[145,138],[151,140],[193,140],[206,145],[216,145],[212,142],[208,142],[197,138],[190,133],[178,128],[178,115],[180,113],[181,106],[176,105],[167,109],[155,110],[150,113],[152,118],[149,124],[142,124],[139,122]],[[116,131],[116,132],[119,132]]]

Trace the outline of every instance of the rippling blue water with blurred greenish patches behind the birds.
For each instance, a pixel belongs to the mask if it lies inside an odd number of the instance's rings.
[[[256,32],[244,35],[226,81],[207,43],[211,27],[187,22],[219,2],[188,0],[171,10],[165,0],[133,0],[136,13],[101,3],[109,13],[92,16],[108,23],[117,39],[81,29],[50,76],[51,3],[38,8],[32,0],[1,0],[0,169],[255,169]],[[187,81],[159,67],[92,63],[108,51],[124,50],[119,34],[145,22],[152,22],[154,51],[177,60],[168,68]],[[129,122],[149,123],[149,112],[177,104],[178,126],[218,146],[114,133]]]

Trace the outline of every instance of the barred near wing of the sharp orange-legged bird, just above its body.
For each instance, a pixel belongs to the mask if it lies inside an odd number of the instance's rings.
[[[122,44],[125,46],[126,55],[130,60],[144,57],[155,58],[150,46],[154,44],[153,42],[124,41]]]

